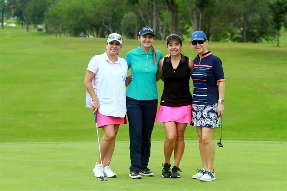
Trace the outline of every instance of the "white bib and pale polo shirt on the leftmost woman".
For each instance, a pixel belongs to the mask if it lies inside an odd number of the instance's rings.
[[[117,57],[117,61],[112,63],[105,52],[91,58],[87,70],[95,73],[91,84],[99,99],[99,112],[102,115],[124,117],[126,115],[126,60]],[[88,91],[86,107],[91,107],[91,96]]]

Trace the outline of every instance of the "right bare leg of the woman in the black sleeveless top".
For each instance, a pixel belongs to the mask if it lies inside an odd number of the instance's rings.
[[[179,162],[184,153],[184,131],[187,123],[176,123],[176,141],[174,148],[174,166],[179,167]]]

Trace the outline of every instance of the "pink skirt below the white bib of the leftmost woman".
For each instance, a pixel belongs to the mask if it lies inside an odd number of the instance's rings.
[[[117,125],[117,124],[126,124],[126,116],[124,117],[112,117],[100,114],[97,111],[97,123],[98,127],[103,127],[105,125]]]

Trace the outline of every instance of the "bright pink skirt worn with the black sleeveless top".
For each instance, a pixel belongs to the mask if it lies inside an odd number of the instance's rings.
[[[159,123],[169,121],[175,121],[178,123],[190,123],[191,105],[181,107],[168,107],[161,105],[158,108],[158,113],[156,115],[155,121]]]

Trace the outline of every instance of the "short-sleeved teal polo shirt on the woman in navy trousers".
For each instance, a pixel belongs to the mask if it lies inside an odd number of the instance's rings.
[[[127,97],[137,100],[152,100],[158,98],[156,87],[156,72],[158,61],[163,58],[161,51],[155,50],[156,61],[153,64],[152,49],[145,53],[141,46],[126,54],[128,67],[132,68],[132,82],[129,84]]]

